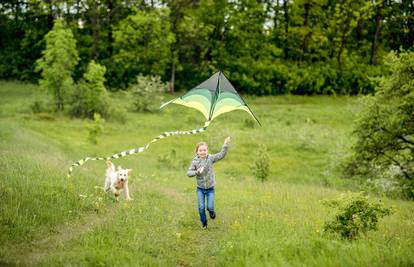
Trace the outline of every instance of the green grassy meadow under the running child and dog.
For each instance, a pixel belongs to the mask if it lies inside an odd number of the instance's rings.
[[[68,167],[85,156],[143,146],[163,131],[200,127],[201,114],[180,106],[128,112],[126,124],[105,123],[92,145],[91,121],[30,113],[30,104],[43,97],[38,90],[0,82],[0,265],[414,264],[412,202],[382,199],[396,212],[357,241],[322,234],[333,214],[321,200],[356,188],[338,168],[352,144],[360,109],[355,98],[246,97],[263,127],[252,127],[243,112],[227,113],[202,134],[169,137],[115,160],[134,169],[134,200],[115,203],[96,188],[103,185],[103,162],[75,168],[71,179]],[[112,99],[124,107],[130,102],[122,94]],[[229,154],[215,165],[217,219],[205,231],[195,181],[185,173],[198,141],[215,152],[228,135]],[[271,159],[264,183],[251,171],[260,145]]]

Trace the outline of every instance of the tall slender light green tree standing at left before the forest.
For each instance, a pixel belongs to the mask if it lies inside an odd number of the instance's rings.
[[[40,86],[53,94],[56,110],[63,111],[72,92],[72,73],[79,60],[76,41],[72,31],[66,29],[61,20],[55,21],[45,40],[46,49],[36,62],[36,70],[42,75]]]

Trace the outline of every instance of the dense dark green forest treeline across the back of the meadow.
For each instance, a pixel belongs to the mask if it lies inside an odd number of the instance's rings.
[[[374,90],[391,50],[412,50],[412,0],[4,0],[0,78],[37,81],[36,60],[59,18],[80,61],[106,67],[106,86],[158,75],[190,89],[221,69],[250,94]]]

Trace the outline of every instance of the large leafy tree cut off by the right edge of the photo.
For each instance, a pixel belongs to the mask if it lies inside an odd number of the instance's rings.
[[[414,53],[391,53],[391,75],[379,80],[375,96],[365,97],[365,109],[355,128],[357,141],[347,174],[400,180],[414,198]],[[388,175],[393,169],[393,175]]]

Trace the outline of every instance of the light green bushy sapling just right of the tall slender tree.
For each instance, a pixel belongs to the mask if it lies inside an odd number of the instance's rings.
[[[71,113],[75,117],[93,118],[95,113],[109,116],[108,95],[105,89],[104,66],[91,61],[83,80],[76,86],[72,96]]]

